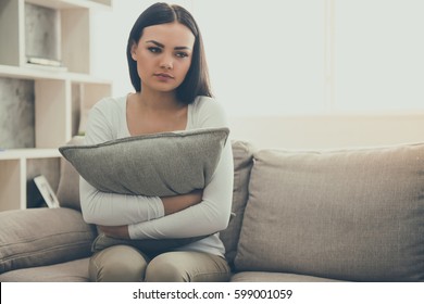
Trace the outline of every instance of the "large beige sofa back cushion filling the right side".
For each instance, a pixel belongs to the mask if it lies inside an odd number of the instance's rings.
[[[424,280],[424,144],[260,151],[237,270]]]

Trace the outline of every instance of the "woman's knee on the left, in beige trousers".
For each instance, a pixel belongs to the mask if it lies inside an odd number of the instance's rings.
[[[136,282],[145,276],[147,261],[132,246],[111,246],[93,255],[89,264],[90,279],[103,282]]]

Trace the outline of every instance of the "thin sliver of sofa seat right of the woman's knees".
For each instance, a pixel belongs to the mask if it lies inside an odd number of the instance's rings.
[[[286,273],[242,271],[235,274],[232,282],[337,282],[322,277],[303,276]]]

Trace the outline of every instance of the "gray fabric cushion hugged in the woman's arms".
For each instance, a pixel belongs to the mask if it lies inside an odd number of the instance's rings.
[[[227,128],[164,132],[66,145],[60,152],[101,191],[175,195],[208,185],[228,132]]]

